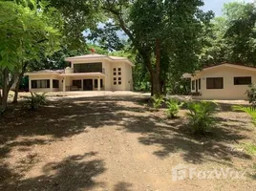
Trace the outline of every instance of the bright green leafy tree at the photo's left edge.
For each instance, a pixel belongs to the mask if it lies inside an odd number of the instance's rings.
[[[58,47],[59,33],[53,28],[59,23],[55,22],[57,11],[45,12],[43,4],[39,9],[35,1],[28,2],[0,1],[1,107],[4,110],[16,74],[24,73],[27,62],[38,58],[41,49],[51,53]],[[54,19],[50,15],[54,15]]]

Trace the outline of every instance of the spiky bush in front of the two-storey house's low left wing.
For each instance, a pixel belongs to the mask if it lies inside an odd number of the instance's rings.
[[[28,107],[32,111],[36,111],[40,106],[46,104],[46,96],[45,96],[46,93],[39,95],[39,94],[31,92],[31,94],[32,94],[32,96],[26,97],[26,98],[28,99],[28,101],[27,101]]]

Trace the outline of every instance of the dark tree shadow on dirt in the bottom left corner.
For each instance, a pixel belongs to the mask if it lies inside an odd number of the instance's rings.
[[[104,182],[97,182],[96,176],[102,174],[106,168],[101,159],[86,159],[96,156],[96,153],[71,156],[60,162],[44,165],[43,175],[11,181],[4,180],[4,190],[89,190],[96,186],[103,186]],[[9,169],[8,172],[11,172]],[[10,178],[12,175],[6,175]]]

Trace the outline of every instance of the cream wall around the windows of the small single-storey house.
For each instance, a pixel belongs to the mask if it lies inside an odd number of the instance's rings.
[[[252,83],[256,83],[256,71],[254,70],[220,66],[200,72],[199,74],[196,74],[196,76],[191,78],[191,82],[192,80],[201,78],[202,83],[201,91],[199,91],[202,94],[202,96],[193,96],[193,98],[227,100],[246,99],[246,91],[248,90],[248,85],[234,85],[235,76],[251,76]],[[207,77],[224,77],[224,89],[206,89]],[[193,92],[195,91],[192,91],[192,93]]]

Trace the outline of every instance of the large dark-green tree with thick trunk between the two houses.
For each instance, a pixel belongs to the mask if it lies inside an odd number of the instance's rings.
[[[102,10],[127,34],[139,52],[150,74],[152,95],[162,92],[161,53],[167,53],[169,63],[177,63],[179,71],[194,70],[201,51],[197,38],[203,23],[212,16],[212,12],[205,14],[199,10],[202,1],[106,0],[101,3]]]

